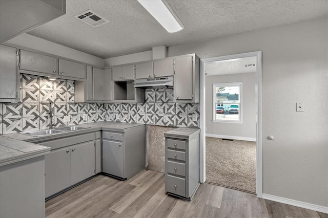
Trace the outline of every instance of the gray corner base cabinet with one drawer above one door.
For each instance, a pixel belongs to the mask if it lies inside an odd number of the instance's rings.
[[[123,133],[103,131],[103,172],[128,180],[145,169],[145,125],[124,129]]]

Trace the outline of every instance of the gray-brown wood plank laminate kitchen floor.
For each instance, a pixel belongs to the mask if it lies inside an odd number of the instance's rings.
[[[165,194],[164,175],[142,171],[128,181],[97,176],[46,202],[46,217],[317,217],[328,214],[200,184],[193,200]]]

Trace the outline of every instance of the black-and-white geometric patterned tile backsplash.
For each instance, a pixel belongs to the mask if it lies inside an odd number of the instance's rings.
[[[20,74],[20,102],[0,103],[0,134],[49,128],[49,101],[55,127],[100,121],[199,127],[199,104],[174,103],[172,89],[146,90],[145,103],[74,103],[74,81]]]

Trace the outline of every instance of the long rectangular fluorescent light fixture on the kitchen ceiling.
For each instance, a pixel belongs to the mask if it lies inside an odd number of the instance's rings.
[[[169,33],[183,29],[181,21],[165,0],[138,0]]]

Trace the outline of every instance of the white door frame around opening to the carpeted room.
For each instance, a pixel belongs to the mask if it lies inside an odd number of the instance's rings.
[[[200,59],[200,182],[206,181],[206,123],[204,63],[236,58],[256,57],[256,195],[262,198],[262,51]]]

